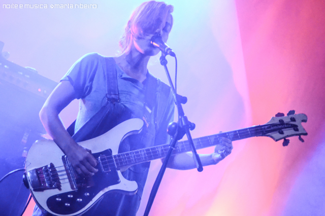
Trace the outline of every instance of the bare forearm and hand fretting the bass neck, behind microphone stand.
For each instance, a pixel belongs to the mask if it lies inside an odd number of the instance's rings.
[[[219,143],[212,154],[199,154],[202,165],[208,166],[212,164],[217,164],[221,160],[223,160],[226,156],[228,156],[233,149],[233,144],[230,139],[222,138],[222,142]],[[220,150],[224,150],[220,152]],[[196,165],[194,164],[194,160],[192,158],[192,153],[183,153],[179,155],[174,155],[171,157],[168,162],[167,167],[172,169],[194,169]]]

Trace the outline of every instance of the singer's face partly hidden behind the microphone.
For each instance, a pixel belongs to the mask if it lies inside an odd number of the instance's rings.
[[[163,41],[166,43],[168,40],[169,32],[172,29],[173,24],[173,18],[171,14],[168,14],[168,17],[166,19],[166,23],[163,27],[163,29],[157,29],[155,34],[159,34]],[[133,44],[134,47],[142,54],[154,56],[159,53],[159,48],[154,47],[150,41],[154,34],[153,33],[146,33],[144,32],[144,37],[134,37]]]

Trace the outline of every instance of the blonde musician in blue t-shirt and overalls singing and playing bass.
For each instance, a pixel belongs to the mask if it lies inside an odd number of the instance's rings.
[[[140,134],[123,140],[119,153],[169,143],[166,129],[174,119],[173,96],[170,87],[148,72],[147,65],[150,57],[159,53],[159,49],[150,44],[150,39],[158,34],[167,42],[173,26],[172,12],[173,6],[164,2],[141,4],[127,22],[120,39],[122,54],[114,58],[98,53],[83,56],[61,79],[42,107],[40,118],[45,129],[80,176],[94,175],[98,169],[95,168],[96,159],[76,141],[101,135],[126,119],[140,118],[145,124]],[[117,83],[117,99],[114,82]],[[71,137],[58,114],[74,99],[80,99],[80,109]],[[224,138],[214,153],[200,155],[200,158],[204,166],[216,164],[232,149],[232,142]],[[196,166],[187,153],[173,156],[168,167],[192,169]],[[148,168],[149,162],[122,171],[126,179],[138,183],[137,194],[107,193],[83,215],[135,215]],[[49,213],[36,206],[33,215]]]

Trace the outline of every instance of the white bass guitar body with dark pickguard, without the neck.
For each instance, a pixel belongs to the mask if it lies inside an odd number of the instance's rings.
[[[38,205],[54,215],[78,215],[107,192],[135,194],[137,183],[125,179],[108,156],[116,155],[120,142],[138,133],[142,126],[142,120],[130,119],[101,136],[79,142],[95,158],[105,155],[96,167],[99,171],[87,179],[75,177],[69,161],[53,140],[35,142],[27,154],[25,169],[29,189]]]

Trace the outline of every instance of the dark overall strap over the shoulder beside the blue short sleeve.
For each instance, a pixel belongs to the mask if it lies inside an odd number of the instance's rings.
[[[115,103],[119,102],[118,89],[117,89],[117,74],[115,60],[113,57],[106,57],[106,98],[108,101]]]

